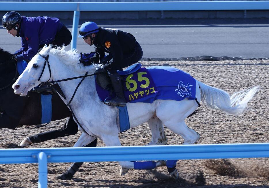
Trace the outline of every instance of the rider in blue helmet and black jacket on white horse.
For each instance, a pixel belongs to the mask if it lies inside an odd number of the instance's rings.
[[[98,27],[94,22],[82,24],[79,37],[90,46],[94,45],[95,51],[101,56],[101,66],[96,73],[109,74],[116,96],[108,100],[108,104],[125,106],[126,100],[117,70],[137,63],[142,58],[143,51],[135,37],[121,30]],[[106,57],[105,52],[109,53]],[[93,58],[96,57],[97,54]]]

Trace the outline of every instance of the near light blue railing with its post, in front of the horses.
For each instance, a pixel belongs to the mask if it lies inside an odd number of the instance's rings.
[[[47,187],[47,163],[269,157],[269,143],[0,149],[0,164],[39,163],[38,187]]]

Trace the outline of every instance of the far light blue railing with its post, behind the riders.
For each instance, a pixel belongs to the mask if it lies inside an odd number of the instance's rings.
[[[189,2],[0,2],[0,11],[74,11],[73,40],[76,48],[80,11],[186,11],[186,10],[268,10],[269,1]],[[74,31],[75,30],[75,31]]]

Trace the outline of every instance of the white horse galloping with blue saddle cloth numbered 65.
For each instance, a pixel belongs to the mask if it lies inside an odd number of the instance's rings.
[[[64,49],[52,49],[51,46],[45,46],[40,51],[40,55],[37,54],[33,57],[24,72],[13,84],[12,88],[15,93],[25,96],[29,90],[38,86],[41,82],[81,76],[85,75],[87,71],[88,74],[94,73],[97,65],[84,67],[79,63],[76,51],[65,51]],[[49,70],[48,64],[44,62],[45,57],[49,59],[51,70]],[[43,66],[45,69],[43,69]],[[40,76],[41,78],[39,78]],[[66,104],[71,99],[79,82],[80,79],[58,83],[66,96],[66,100],[62,98]],[[255,86],[230,96],[221,89],[208,86],[196,80],[196,98],[198,102],[202,100],[210,108],[221,110],[230,115],[243,113],[247,102],[251,100],[257,91],[258,87]],[[149,122],[151,127],[164,123],[168,129],[183,137],[183,144],[194,144],[200,138],[200,134],[190,129],[184,121],[198,108],[198,103],[195,100],[186,98],[181,101],[155,100],[153,103],[127,103],[126,106],[130,128],[137,127],[146,121]],[[118,108],[116,106],[107,106],[100,101],[93,76],[86,77],[82,82],[73,98],[71,107],[78,122],[84,129],[74,147],[86,145],[92,142],[95,137],[101,138],[106,146],[121,146],[118,136],[120,132]],[[127,169],[134,168],[134,163],[131,161],[119,161],[120,166]],[[163,164],[160,162],[156,167],[161,165]]]

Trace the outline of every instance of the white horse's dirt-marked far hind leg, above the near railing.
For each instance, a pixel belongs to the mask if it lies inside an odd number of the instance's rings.
[[[148,123],[152,135],[151,142],[149,142],[148,145],[165,145],[167,143],[167,138],[162,121],[154,115],[149,119]]]

